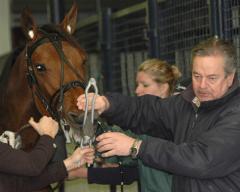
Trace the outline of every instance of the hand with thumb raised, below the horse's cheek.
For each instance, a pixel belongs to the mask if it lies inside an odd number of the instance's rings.
[[[58,132],[58,123],[51,117],[43,116],[39,122],[34,121],[31,117],[29,124],[38,132],[39,135],[49,135],[55,138]]]

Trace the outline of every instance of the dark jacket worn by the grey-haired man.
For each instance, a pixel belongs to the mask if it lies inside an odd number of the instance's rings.
[[[193,104],[192,86],[167,99],[107,95],[102,116],[144,140],[138,157],[173,173],[174,192],[240,191],[240,89],[235,79],[220,99]]]

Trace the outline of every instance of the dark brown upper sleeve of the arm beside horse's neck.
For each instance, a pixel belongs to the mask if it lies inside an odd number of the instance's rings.
[[[31,152],[15,150],[0,143],[0,172],[22,176],[39,175],[54,153],[53,139],[47,135],[40,137]]]

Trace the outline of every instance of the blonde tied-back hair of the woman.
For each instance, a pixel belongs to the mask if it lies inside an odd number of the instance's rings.
[[[144,72],[150,75],[157,83],[168,83],[169,94],[174,92],[177,80],[182,75],[175,65],[170,65],[160,59],[145,60],[138,67],[138,72]]]

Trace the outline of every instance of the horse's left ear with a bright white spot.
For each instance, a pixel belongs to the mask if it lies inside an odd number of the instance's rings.
[[[28,8],[25,8],[22,12],[21,26],[23,33],[28,40],[34,41],[37,38],[37,25]]]

